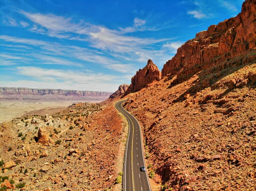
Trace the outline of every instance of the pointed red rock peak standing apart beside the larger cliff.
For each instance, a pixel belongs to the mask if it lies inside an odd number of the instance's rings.
[[[130,92],[139,91],[146,85],[161,79],[161,71],[153,63],[152,60],[148,60],[147,65],[136,72],[136,75],[131,78],[131,85],[128,89]]]

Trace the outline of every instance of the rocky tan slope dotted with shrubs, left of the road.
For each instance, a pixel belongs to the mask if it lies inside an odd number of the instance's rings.
[[[94,103],[2,123],[0,189],[120,190],[126,134],[113,105]]]

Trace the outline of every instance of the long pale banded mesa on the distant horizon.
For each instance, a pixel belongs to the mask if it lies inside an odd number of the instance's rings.
[[[104,91],[0,88],[0,100],[105,100],[111,94]]]

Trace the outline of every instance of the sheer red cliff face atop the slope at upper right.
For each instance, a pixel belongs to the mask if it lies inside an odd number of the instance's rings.
[[[162,76],[192,75],[251,49],[256,49],[256,1],[246,0],[236,17],[209,26],[178,48]]]

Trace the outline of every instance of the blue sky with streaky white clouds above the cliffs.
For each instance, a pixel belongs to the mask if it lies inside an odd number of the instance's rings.
[[[0,0],[0,87],[114,92],[243,0]]]

